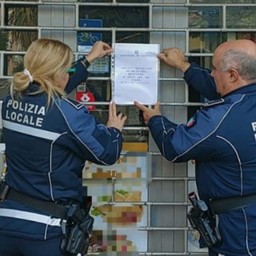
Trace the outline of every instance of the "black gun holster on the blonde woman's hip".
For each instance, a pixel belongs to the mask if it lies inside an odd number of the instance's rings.
[[[62,253],[70,256],[86,254],[93,225],[94,218],[89,213],[79,206],[70,206],[67,220],[62,220]]]

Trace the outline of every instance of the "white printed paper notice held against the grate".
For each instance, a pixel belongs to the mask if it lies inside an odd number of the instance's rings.
[[[158,102],[159,45],[116,43],[114,46],[114,102],[144,105]]]

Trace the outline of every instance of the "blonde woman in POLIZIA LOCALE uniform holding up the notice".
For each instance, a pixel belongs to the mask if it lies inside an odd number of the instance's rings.
[[[117,161],[126,116],[117,115],[115,104],[110,103],[104,126],[85,106],[66,98],[86,81],[90,62],[111,52],[105,42],[97,42],[87,58],[72,64],[73,52],[62,42],[41,38],[30,45],[25,70],[14,74],[10,96],[2,103],[8,194],[17,192],[61,207],[80,206],[85,161],[99,165]],[[72,65],[76,74],[70,78]],[[0,255],[63,255],[58,214],[8,194],[0,203]]]

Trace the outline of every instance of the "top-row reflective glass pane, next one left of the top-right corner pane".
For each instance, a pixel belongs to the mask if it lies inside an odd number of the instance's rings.
[[[221,7],[190,7],[190,28],[219,28],[222,27]]]

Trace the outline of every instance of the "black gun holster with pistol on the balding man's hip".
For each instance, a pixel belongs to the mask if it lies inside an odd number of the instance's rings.
[[[198,200],[194,192],[189,194],[192,208],[187,215],[192,228],[198,230],[200,239],[207,247],[218,246],[221,241],[221,235],[216,225],[216,218],[214,212],[206,206],[202,200]]]

